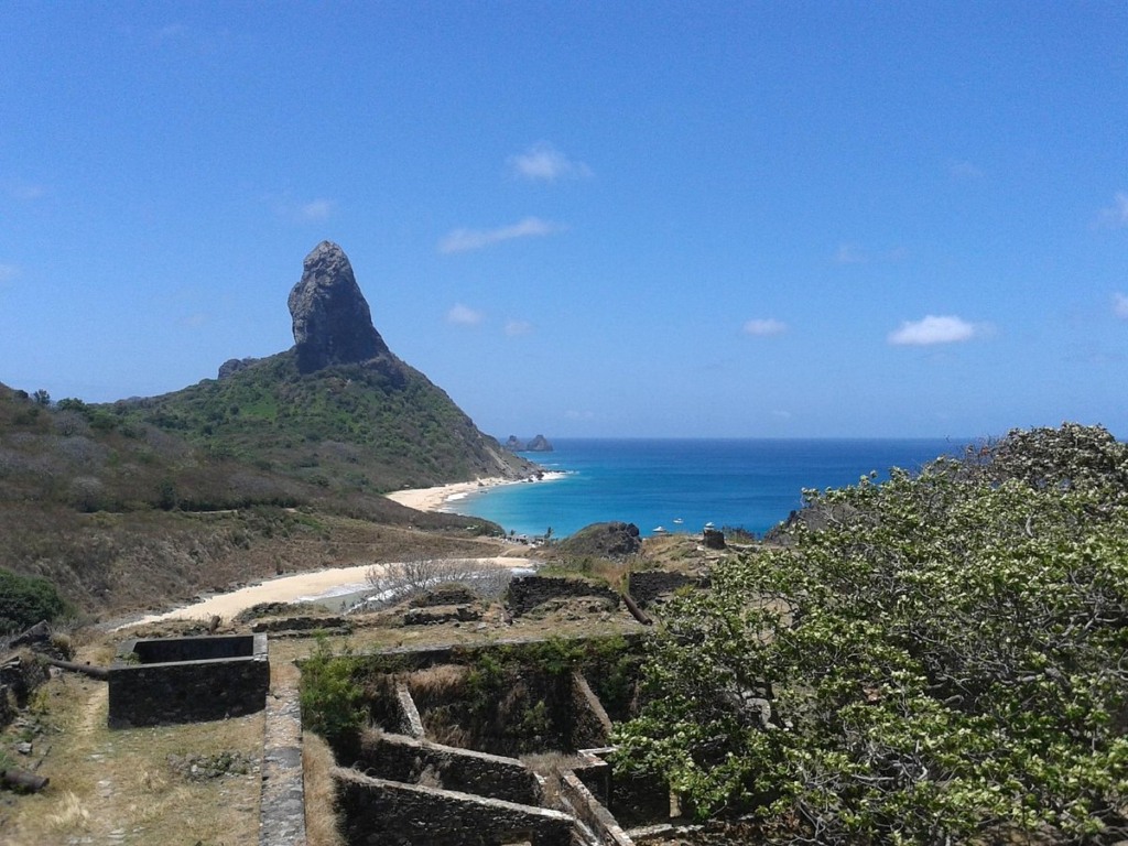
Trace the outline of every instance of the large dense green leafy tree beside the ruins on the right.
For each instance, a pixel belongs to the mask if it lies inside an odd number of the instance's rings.
[[[1125,838],[1126,483],[1067,424],[804,492],[670,603],[617,767],[778,843]]]

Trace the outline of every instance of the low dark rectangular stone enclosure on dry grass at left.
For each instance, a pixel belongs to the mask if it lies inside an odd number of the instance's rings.
[[[142,662],[122,660],[130,653]],[[231,653],[240,656],[211,658]],[[190,658],[146,662],[167,655]],[[111,728],[222,720],[266,705],[271,668],[265,635],[126,641],[118,656],[108,673]]]

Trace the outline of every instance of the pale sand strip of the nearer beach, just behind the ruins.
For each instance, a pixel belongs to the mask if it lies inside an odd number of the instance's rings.
[[[529,566],[528,558],[514,558],[501,555],[492,558],[476,558],[476,561],[494,563],[505,567]],[[150,614],[138,620],[132,620],[127,625],[158,623],[166,619],[211,619],[213,616],[229,620],[239,611],[256,606],[259,602],[301,602],[326,596],[343,596],[364,590],[368,584],[365,576],[372,566],[380,565],[361,564],[351,567],[332,567],[329,570],[315,570],[309,573],[298,573],[296,575],[283,575],[262,582],[261,584],[239,588],[228,593],[218,593],[214,597],[202,599],[199,602],[193,602],[171,611]]]

